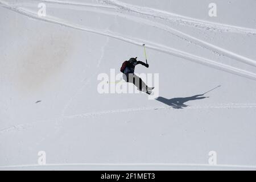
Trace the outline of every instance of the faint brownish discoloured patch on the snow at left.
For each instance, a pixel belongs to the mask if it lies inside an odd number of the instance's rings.
[[[72,40],[64,33],[48,34],[32,42],[19,59],[18,88],[36,91],[60,72],[72,51]]]

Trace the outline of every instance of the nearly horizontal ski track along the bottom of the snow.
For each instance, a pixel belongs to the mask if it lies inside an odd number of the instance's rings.
[[[159,170],[175,170],[180,167],[188,168],[188,169],[200,169],[201,167],[205,170],[207,169],[217,169],[217,170],[255,170],[256,166],[253,165],[238,165],[238,164],[197,164],[197,163],[55,163],[55,164],[20,164],[20,165],[8,165],[8,166],[0,166],[0,169],[16,169],[16,170],[33,170],[33,169],[48,169],[48,170],[65,170],[73,168],[75,170],[91,170],[92,168],[96,170],[102,169],[110,169],[110,170],[152,170],[152,168],[157,168]],[[61,168],[61,169],[60,169]]]

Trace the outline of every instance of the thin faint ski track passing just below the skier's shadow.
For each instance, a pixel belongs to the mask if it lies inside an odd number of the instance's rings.
[[[138,111],[158,111],[158,110],[164,110],[164,109],[171,109],[174,111],[181,111],[183,109],[175,109],[172,106],[162,106],[162,107],[139,107],[139,108],[130,108],[130,109],[113,109],[113,110],[105,110],[105,111],[98,111],[98,112],[92,112],[92,113],[82,113],[82,114],[73,114],[73,115],[61,115],[61,117],[56,118],[50,118],[50,119],[42,119],[39,121],[34,121],[30,123],[23,123],[14,125],[11,127],[7,127],[5,129],[0,130],[0,134],[4,134],[6,132],[10,131],[24,131],[26,129],[30,129],[34,125],[37,125],[38,123],[44,123],[44,122],[59,122],[58,125],[60,125],[60,122],[64,122],[64,119],[74,119],[74,118],[88,118],[88,117],[98,117],[100,115],[105,114],[119,114],[119,113],[130,113],[130,112],[138,112]],[[216,105],[195,105],[195,106],[187,106],[184,108],[187,109],[256,109],[256,104],[216,104]],[[57,128],[59,130],[59,128]],[[57,131],[56,131],[57,132]]]

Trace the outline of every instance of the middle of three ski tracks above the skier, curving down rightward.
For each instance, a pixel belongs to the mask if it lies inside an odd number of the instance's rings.
[[[39,0],[39,1],[43,1],[43,0]],[[48,0],[46,0],[46,2],[56,3],[55,1],[48,1]],[[58,3],[61,4],[61,5],[71,4],[71,5],[77,6],[76,3],[75,4],[67,3],[67,2],[58,2]],[[115,5],[115,6],[117,6],[117,5]],[[102,7],[105,7],[105,6],[102,5]],[[109,9],[115,10],[114,6],[113,6],[113,8],[109,8]],[[86,10],[86,11],[88,11],[88,10]],[[238,55],[237,53],[234,53],[232,51],[228,51],[224,48],[215,46],[215,45],[210,44],[208,42],[205,42],[203,40],[197,39],[197,38],[195,38],[191,35],[185,34],[184,32],[181,32],[179,30],[176,30],[175,28],[171,28],[169,26],[166,26],[162,23],[154,22],[152,20],[149,20],[148,18],[145,18],[145,17],[139,18],[139,17],[136,17],[136,16],[126,15],[126,14],[121,14],[121,13],[110,13],[108,11],[98,11],[98,10],[91,10],[91,11],[98,12],[98,13],[109,14],[109,15],[118,15],[118,16],[121,16],[123,18],[133,20],[134,22],[147,24],[148,26],[159,28],[160,30],[164,30],[166,32],[169,32],[170,34],[172,34],[174,36],[177,36],[178,38],[180,38],[180,39],[182,39],[186,42],[193,43],[196,46],[200,46],[201,48],[206,48],[206,49],[212,51],[213,53],[217,53],[218,55],[224,55],[224,56],[230,57],[231,59],[235,59],[235,60],[241,61],[242,63],[245,63],[245,64],[252,65],[252,66],[256,67],[256,61],[254,61],[254,60],[251,60],[251,59],[249,59],[245,56]]]

